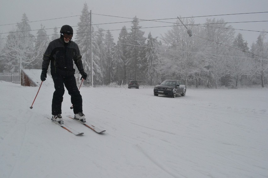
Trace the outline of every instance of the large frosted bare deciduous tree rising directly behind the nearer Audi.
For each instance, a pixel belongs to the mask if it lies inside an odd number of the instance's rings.
[[[192,24],[191,29],[195,35],[201,33],[200,27],[194,26],[193,18],[182,21],[184,24]],[[162,76],[183,80],[187,85],[189,78],[196,77],[199,80],[201,68],[204,67],[196,54],[201,44],[200,40],[189,37],[187,29],[178,24],[181,24],[179,20],[161,38],[168,49],[161,51],[160,70]]]

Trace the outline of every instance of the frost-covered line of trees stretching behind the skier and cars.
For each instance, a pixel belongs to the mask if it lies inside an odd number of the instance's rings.
[[[183,80],[188,86],[238,87],[239,85],[267,84],[268,42],[265,30],[250,48],[242,34],[224,19],[207,19],[204,26],[195,25],[194,18],[177,20],[161,37],[151,33],[144,37],[139,19],[133,18],[131,30],[123,26],[117,42],[111,32],[98,28],[91,33],[90,14],[85,3],[76,30],[75,41],[82,55],[85,71],[93,74],[94,85],[126,84],[137,80],[141,84],[156,85],[165,79]],[[51,37],[41,24],[36,38],[31,34],[29,20],[24,13],[22,21],[6,40],[0,40],[0,72],[20,69],[41,69],[42,55],[48,43],[59,38],[57,28]],[[96,31],[92,29],[92,31]],[[105,32],[104,32],[105,31]],[[0,34],[1,37],[1,34]],[[88,77],[87,83],[91,83]]]

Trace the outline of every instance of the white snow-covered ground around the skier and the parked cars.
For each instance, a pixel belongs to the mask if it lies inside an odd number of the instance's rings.
[[[185,97],[153,88],[81,87],[94,133],[66,118],[75,136],[46,118],[53,86],[0,81],[0,177],[268,177],[268,89],[188,89]]]

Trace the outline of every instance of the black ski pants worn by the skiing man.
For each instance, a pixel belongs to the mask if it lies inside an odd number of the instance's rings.
[[[55,92],[52,99],[52,115],[61,114],[61,103],[64,95],[64,85],[71,96],[71,103],[73,104],[74,113],[83,112],[82,96],[76,86],[75,76],[60,76],[53,75],[53,82]]]

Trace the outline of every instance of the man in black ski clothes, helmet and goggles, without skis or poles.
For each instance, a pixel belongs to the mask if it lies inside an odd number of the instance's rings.
[[[53,78],[55,92],[52,99],[52,120],[63,124],[61,116],[61,103],[64,95],[64,85],[71,96],[75,119],[86,122],[82,109],[82,96],[76,86],[75,69],[73,61],[82,75],[81,79],[87,79],[87,73],[83,69],[82,56],[78,45],[71,41],[73,28],[63,25],[60,29],[60,38],[49,43],[43,55],[41,81],[47,78],[47,69],[50,63],[51,76]]]

